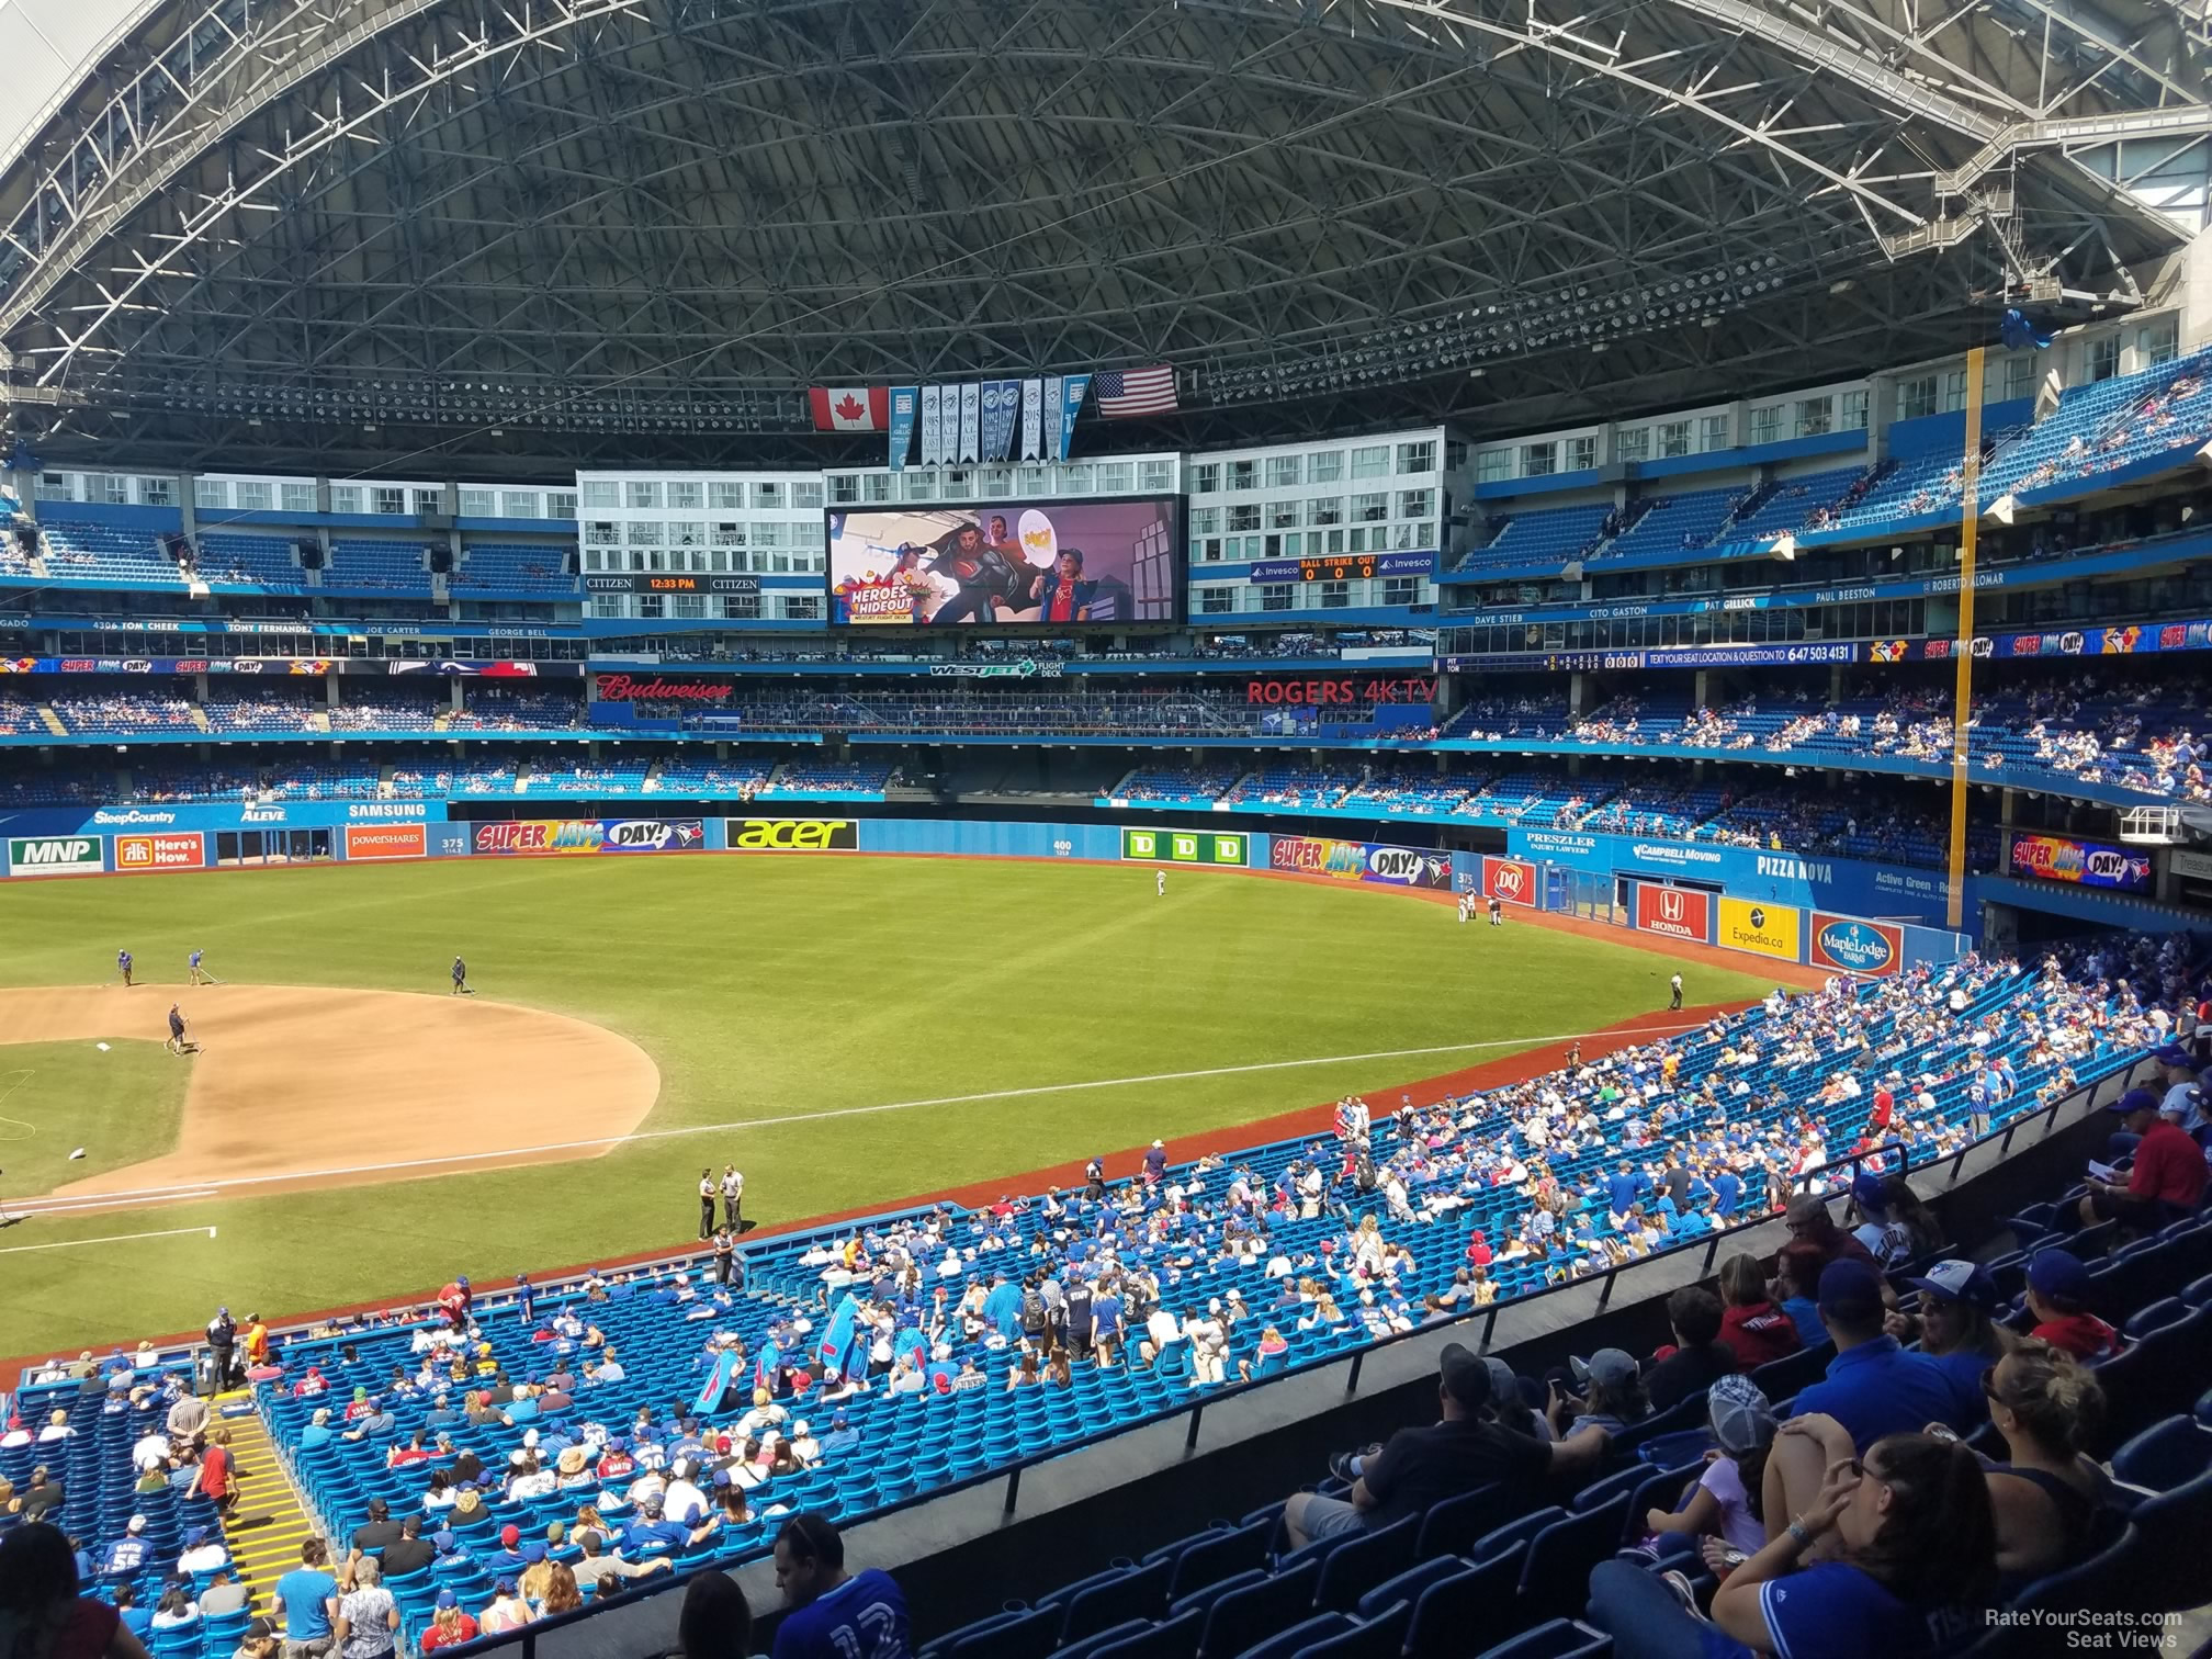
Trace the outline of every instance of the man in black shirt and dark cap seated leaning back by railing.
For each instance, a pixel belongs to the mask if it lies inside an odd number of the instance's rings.
[[[1491,1371],[1462,1343],[1447,1345],[1438,1356],[1436,1394],[1442,1420],[1427,1429],[1398,1429],[1363,1460],[1360,1478],[1345,1498],[1292,1495],[1283,1509],[1292,1548],[1387,1526],[1493,1480],[1535,1491],[1553,1471],[1595,1469],[1604,1455],[1604,1429],[1546,1442],[1500,1422],[1491,1409]]]

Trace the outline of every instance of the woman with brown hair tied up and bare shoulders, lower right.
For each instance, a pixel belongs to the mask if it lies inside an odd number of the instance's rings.
[[[1984,1464],[2004,1586],[2059,1573],[2117,1540],[2128,1504],[2084,1451],[2104,1422],[2095,1374],[2031,1340],[1989,1367],[1982,1391],[2006,1447],[2006,1462]]]

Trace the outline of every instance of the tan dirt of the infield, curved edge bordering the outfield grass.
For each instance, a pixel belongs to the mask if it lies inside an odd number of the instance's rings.
[[[58,1188],[148,1194],[354,1186],[597,1157],[661,1093],[646,1051],[482,998],[279,984],[0,991],[0,1044],[168,1035],[199,1053],[177,1150]],[[4,1051],[0,1051],[4,1053]]]

